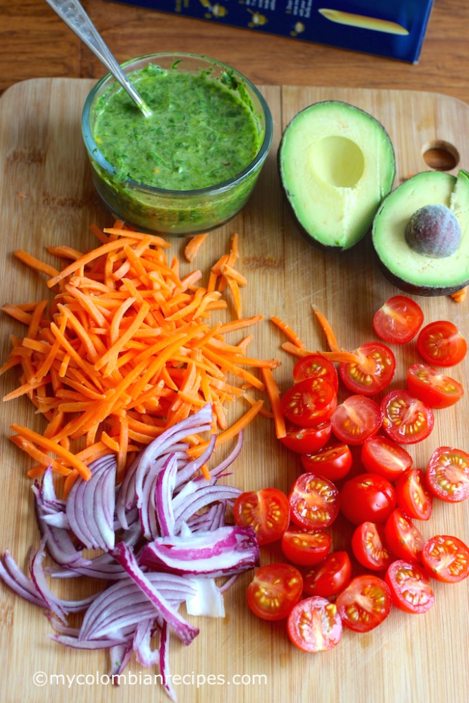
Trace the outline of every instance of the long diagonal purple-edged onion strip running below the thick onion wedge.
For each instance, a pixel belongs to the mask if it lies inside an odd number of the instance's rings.
[[[167,602],[153,583],[147,579],[146,574],[144,574],[139,567],[135,555],[130,548],[121,542],[117,545],[113,554],[115,559],[127,571],[131,579],[134,579],[136,585],[139,586],[142,593],[146,595],[146,598],[153,603],[155,610],[164,617],[167,624],[174,630],[181,642],[185,645],[191,644],[193,638],[198,635],[199,629],[189,624],[179,612]]]

